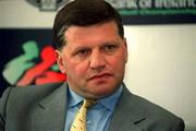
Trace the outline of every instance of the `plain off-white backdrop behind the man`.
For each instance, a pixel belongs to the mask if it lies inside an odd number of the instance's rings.
[[[51,28],[56,12],[0,0],[0,28]],[[196,24],[125,26],[130,91],[182,117],[196,130]]]

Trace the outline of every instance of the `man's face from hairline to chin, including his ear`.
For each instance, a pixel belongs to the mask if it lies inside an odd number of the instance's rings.
[[[71,26],[64,34],[66,45],[57,50],[58,64],[77,94],[97,99],[114,93],[122,83],[127,48],[117,24]]]

